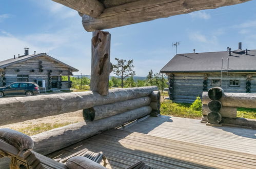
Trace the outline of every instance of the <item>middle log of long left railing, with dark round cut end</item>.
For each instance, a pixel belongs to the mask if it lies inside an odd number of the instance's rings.
[[[133,109],[141,108],[149,104],[150,97],[141,97],[112,104],[97,105],[89,109],[84,109],[83,116],[86,121],[99,120]]]

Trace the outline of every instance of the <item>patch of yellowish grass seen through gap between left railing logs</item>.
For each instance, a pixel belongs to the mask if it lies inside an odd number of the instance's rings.
[[[60,128],[62,126],[71,124],[71,122],[65,122],[65,123],[41,123],[41,124],[35,124],[35,125],[30,125],[26,128],[21,128],[21,129],[13,129],[19,132],[22,132],[26,135],[33,136],[38,133],[46,132],[55,128]]]

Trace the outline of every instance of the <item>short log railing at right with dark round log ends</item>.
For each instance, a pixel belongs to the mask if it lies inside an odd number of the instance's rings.
[[[202,95],[202,121],[209,125],[239,125],[256,128],[256,120],[237,117],[237,108],[256,108],[256,93],[224,93],[211,88]]]

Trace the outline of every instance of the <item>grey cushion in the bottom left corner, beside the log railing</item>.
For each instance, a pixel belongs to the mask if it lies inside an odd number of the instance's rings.
[[[34,142],[29,136],[11,129],[0,129],[0,139],[13,145],[19,151],[33,149],[34,146]]]

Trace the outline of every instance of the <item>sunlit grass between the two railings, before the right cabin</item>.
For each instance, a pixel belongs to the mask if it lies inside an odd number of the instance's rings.
[[[190,103],[173,103],[171,100],[165,100],[161,103],[161,114],[200,119],[202,117],[202,111],[192,110],[190,106]]]

